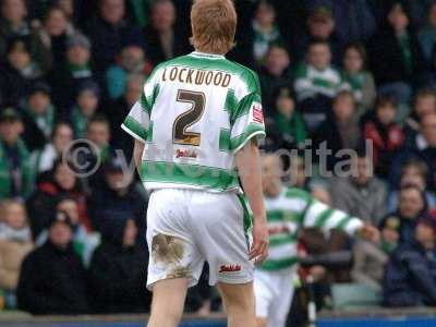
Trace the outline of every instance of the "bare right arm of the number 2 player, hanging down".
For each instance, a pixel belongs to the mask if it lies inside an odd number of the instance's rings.
[[[237,153],[237,167],[244,193],[253,211],[253,244],[250,258],[262,262],[268,256],[268,226],[262,194],[261,155],[255,140]]]

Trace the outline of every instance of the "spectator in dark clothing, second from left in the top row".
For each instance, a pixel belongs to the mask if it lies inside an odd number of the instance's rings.
[[[47,51],[48,66],[46,71],[59,69],[65,63],[68,38],[74,35],[75,29],[63,10],[59,7],[48,9],[44,26],[39,28],[38,35]]]

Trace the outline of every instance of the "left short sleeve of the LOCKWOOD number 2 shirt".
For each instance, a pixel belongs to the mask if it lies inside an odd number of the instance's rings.
[[[130,110],[124,122],[121,124],[121,129],[123,129],[134,138],[145,143],[147,140],[148,126],[149,126],[148,111],[145,108],[143,108],[141,101],[137,101]]]

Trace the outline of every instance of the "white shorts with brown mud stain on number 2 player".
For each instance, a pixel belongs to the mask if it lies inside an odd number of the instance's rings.
[[[251,217],[238,194],[154,191],[147,211],[147,288],[171,278],[187,278],[189,286],[195,286],[205,262],[211,286],[250,282],[251,238]]]

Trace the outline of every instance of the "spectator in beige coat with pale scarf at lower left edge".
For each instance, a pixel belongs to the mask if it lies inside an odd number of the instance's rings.
[[[0,207],[3,211],[0,222],[0,288],[11,295],[7,299],[13,299],[21,264],[34,245],[22,203],[7,199]]]

